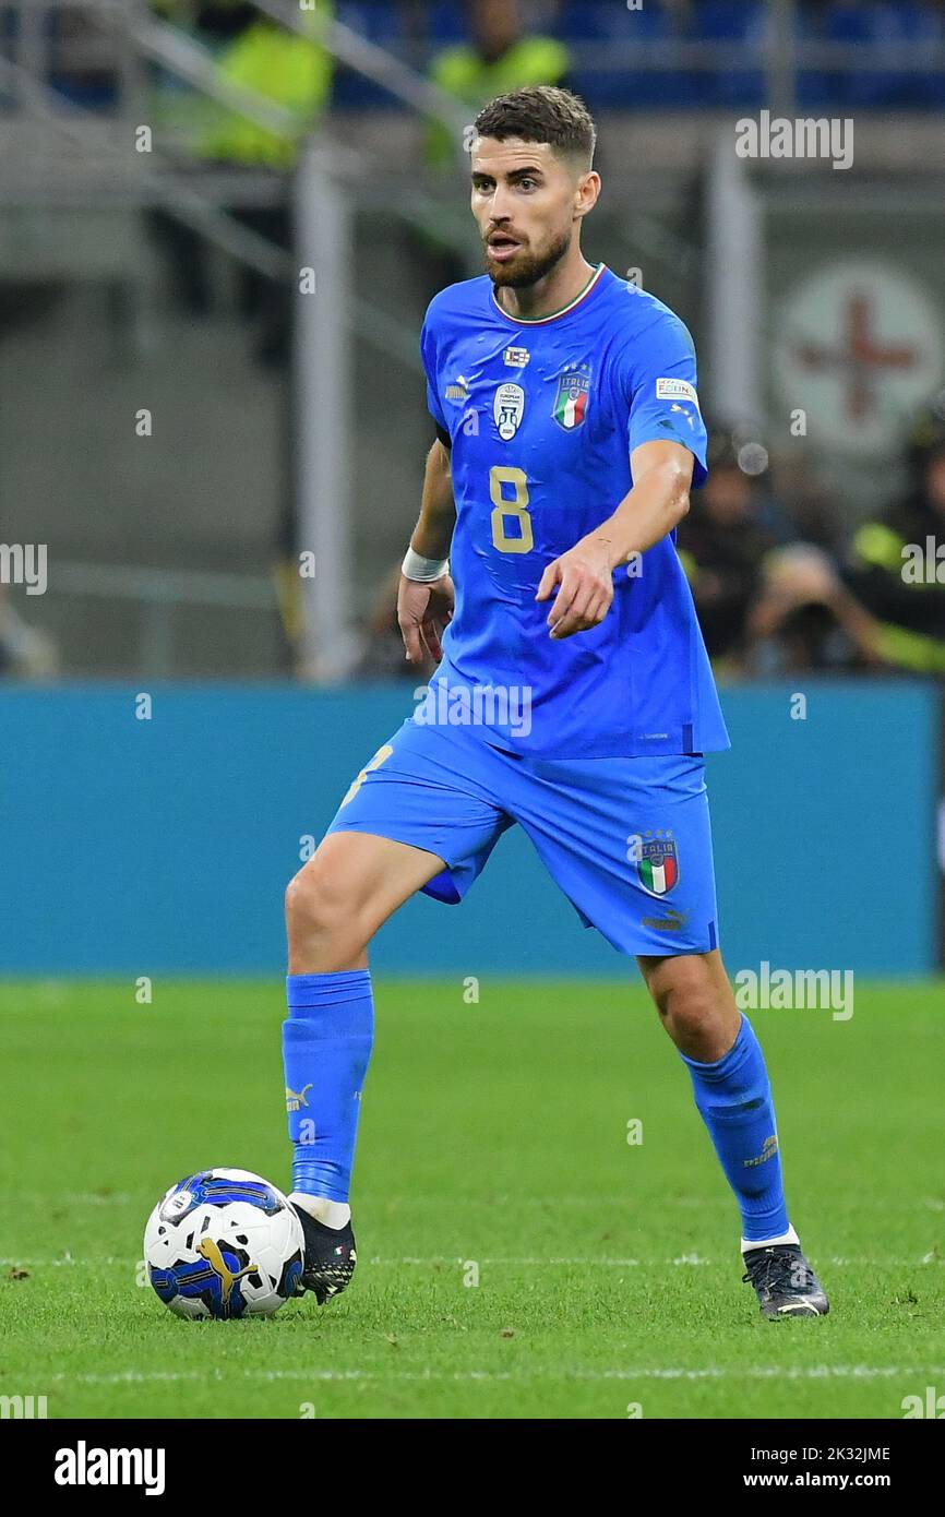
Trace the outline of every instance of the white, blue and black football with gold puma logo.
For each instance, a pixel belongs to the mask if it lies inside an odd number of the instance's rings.
[[[147,1276],[177,1317],[272,1317],[294,1296],[302,1256],[288,1200],[249,1170],[188,1174],[144,1229]]]

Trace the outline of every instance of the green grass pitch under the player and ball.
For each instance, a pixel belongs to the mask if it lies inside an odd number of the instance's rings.
[[[752,1021],[831,1296],[768,1323],[689,1077],[636,977],[379,981],[359,1265],[319,1309],[171,1317],[144,1220],[205,1165],[288,1189],[270,983],[0,988],[0,1394],[49,1417],[903,1415],[945,1391],[945,1006]],[[642,1142],[628,1144],[628,1123]],[[478,1283],[472,1283],[478,1280]]]

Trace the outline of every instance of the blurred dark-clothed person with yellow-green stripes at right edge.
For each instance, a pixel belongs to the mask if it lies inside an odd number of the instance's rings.
[[[883,660],[945,675],[945,414],[924,410],[909,434],[910,482],[852,540],[846,586],[875,619]],[[940,554],[940,557],[939,557]]]

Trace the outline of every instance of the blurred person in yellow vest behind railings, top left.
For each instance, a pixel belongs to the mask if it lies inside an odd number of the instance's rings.
[[[319,9],[300,11],[311,36],[300,36],[261,15],[244,0],[153,0],[155,9],[174,24],[188,27],[217,61],[220,79],[272,100],[294,117],[293,129],[273,132],[215,100],[199,102],[188,123],[197,158],[234,174],[252,170],[272,179],[272,203],[244,205],[237,199],[229,214],[276,247],[291,246],[290,174],[300,144],[328,105],[332,79],[331,55],[317,41],[323,17],[334,15],[334,0],[317,0]],[[167,120],[167,114],[165,114]],[[190,314],[212,305],[208,244],[199,232],[174,217],[158,212],[155,228],[171,259],[177,300]],[[255,355],[282,367],[290,355],[291,294],[288,285],[255,269],[240,269],[240,309],[255,325]]]

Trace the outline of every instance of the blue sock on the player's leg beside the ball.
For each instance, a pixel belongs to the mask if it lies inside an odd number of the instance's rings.
[[[347,1201],[361,1086],[375,1041],[369,969],[290,974],[282,1022],[293,1189]]]

